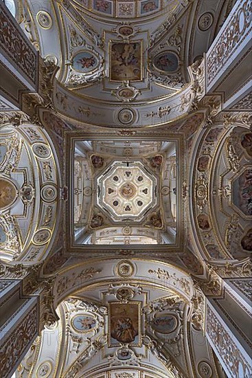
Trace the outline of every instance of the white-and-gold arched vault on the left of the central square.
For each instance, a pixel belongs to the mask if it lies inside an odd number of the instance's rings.
[[[54,242],[58,164],[46,131],[5,126],[0,137],[0,236],[5,261],[39,261]]]

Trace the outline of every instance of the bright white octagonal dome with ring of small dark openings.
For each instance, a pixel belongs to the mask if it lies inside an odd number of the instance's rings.
[[[139,221],[157,203],[157,179],[141,162],[114,162],[98,177],[98,205],[114,221]]]

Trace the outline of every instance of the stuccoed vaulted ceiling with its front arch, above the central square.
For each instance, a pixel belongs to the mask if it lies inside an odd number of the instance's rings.
[[[20,21],[43,58],[59,67],[53,97],[62,117],[155,126],[189,111],[187,66],[207,51],[222,3],[59,0],[45,10],[41,1],[38,10],[27,1]]]

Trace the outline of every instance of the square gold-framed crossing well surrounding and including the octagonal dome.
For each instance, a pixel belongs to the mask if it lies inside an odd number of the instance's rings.
[[[70,135],[71,249],[178,245],[179,138]]]

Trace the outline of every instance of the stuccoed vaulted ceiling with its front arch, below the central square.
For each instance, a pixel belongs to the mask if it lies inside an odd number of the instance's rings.
[[[82,289],[80,280],[85,282]],[[17,376],[218,374],[196,322],[196,307],[188,302],[192,290],[185,272],[145,261],[104,260],[95,269],[88,263],[84,269],[62,271],[54,285],[55,298],[65,298],[58,305],[58,321],[36,340]]]

